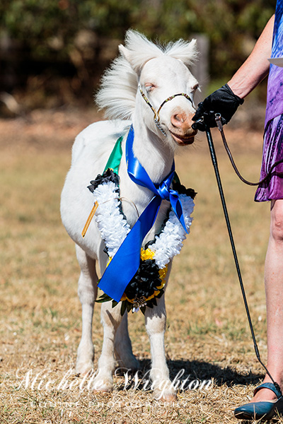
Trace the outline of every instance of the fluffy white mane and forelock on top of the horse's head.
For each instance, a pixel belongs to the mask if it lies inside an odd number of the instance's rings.
[[[120,45],[120,56],[107,69],[96,95],[100,110],[109,119],[131,119],[134,112],[139,73],[150,59],[161,56],[180,59],[186,66],[197,58],[196,40],[178,40],[166,46],[156,45],[144,35],[128,30],[125,47]]]

